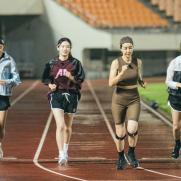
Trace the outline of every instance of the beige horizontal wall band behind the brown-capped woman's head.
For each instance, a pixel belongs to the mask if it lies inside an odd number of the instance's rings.
[[[181,41],[181,33],[164,33],[164,32],[149,32],[146,33],[143,29],[142,32],[136,33],[117,33],[112,36],[112,49],[119,49],[119,41],[123,36],[131,36],[135,43],[135,50],[178,50]]]

